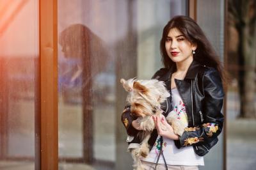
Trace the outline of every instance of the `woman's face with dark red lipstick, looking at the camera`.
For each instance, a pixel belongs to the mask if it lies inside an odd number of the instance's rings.
[[[165,41],[165,49],[173,62],[180,63],[193,58],[196,45],[190,43],[177,28],[170,29]]]

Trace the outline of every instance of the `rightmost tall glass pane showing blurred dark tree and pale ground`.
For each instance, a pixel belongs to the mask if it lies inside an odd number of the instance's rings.
[[[227,169],[255,169],[256,2],[230,0],[227,13]]]

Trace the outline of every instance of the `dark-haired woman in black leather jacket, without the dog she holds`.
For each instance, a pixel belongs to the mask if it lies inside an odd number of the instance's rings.
[[[145,169],[156,166],[159,169],[198,169],[204,165],[204,158],[200,156],[217,143],[223,127],[220,61],[200,27],[185,16],[174,17],[166,24],[160,47],[164,68],[153,78],[166,83],[171,93],[168,103],[172,106],[163,107],[169,108],[166,114],[175,111],[177,119],[185,119],[188,128],[179,136],[165,118],[152,117],[156,129],[148,142],[152,147],[150,153],[142,158],[143,166]],[[122,121],[129,135],[129,148],[137,147],[140,126],[136,118],[131,117],[129,106],[122,114]],[[159,128],[160,121],[168,130]],[[162,155],[160,150],[163,150]]]

